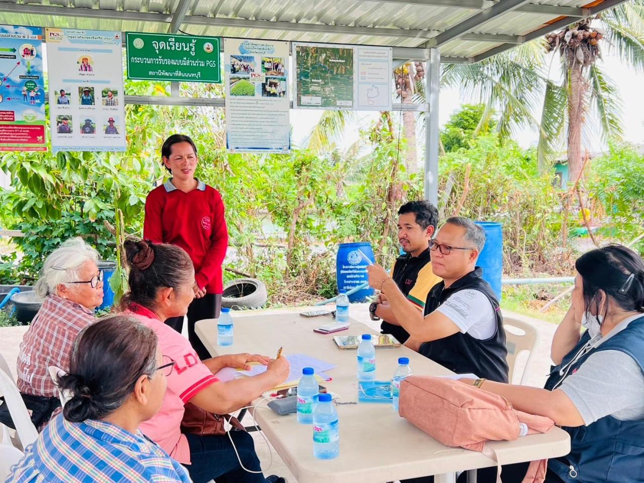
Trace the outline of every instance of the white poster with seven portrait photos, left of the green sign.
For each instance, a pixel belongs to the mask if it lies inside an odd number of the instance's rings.
[[[48,28],[52,151],[125,151],[122,34]]]

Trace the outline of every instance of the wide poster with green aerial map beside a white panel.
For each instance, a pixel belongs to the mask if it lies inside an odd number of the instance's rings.
[[[293,43],[298,109],[392,109],[391,47]]]

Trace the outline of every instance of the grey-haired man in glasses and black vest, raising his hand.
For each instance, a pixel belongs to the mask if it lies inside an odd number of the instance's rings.
[[[497,296],[476,266],[485,231],[468,218],[449,218],[430,242],[431,267],[442,278],[427,296],[424,317],[379,265],[367,267],[369,283],[384,293],[406,346],[457,374],[507,383],[506,332]]]

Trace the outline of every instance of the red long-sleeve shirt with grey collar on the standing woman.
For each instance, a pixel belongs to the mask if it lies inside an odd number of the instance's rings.
[[[222,263],[228,247],[228,229],[219,192],[198,182],[184,193],[167,181],[146,199],[143,238],[172,243],[188,252],[194,279],[209,294],[223,292]]]

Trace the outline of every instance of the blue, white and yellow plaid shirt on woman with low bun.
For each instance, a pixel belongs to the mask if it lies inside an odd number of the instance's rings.
[[[140,432],[58,415],[26,448],[6,483],[189,483],[187,469]]]

